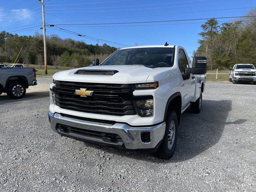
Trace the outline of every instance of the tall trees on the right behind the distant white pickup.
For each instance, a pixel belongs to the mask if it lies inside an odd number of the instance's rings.
[[[194,56],[206,56],[208,68],[226,69],[234,64],[256,64],[256,8],[239,21],[220,24],[212,18],[201,25],[201,39]],[[254,17],[253,17],[254,16]]]

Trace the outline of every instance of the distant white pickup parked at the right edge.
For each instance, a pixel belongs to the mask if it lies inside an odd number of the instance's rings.
[[[256,85],[256,69],[253,64],[235,64],[230,68],[229,81],[236,82],[253,82]]]

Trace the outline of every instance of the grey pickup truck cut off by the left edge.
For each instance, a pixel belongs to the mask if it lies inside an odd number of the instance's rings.
[[[0,68],[0,95],[4,92],[9,98],[20,99],[28,86],[36,84],[34,68]]]

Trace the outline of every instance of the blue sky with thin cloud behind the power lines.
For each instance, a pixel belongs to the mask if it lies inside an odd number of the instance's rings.
[[[38,0],[0,0],[0,30],[14,31],[12,33],[19,35],[33,35],[36,30],[42,33],[40,27],[34,27],[42,23],[40,6]],[[198,46],[200,25],[205,20],[125,25],[109,24],[108,26],[67,26],[62,24],[243,16],[250,10],[250,8],[245,7],[254,6],[256,6],[255,0],[45,0],[45,19],[46,23],[59,24],[58,27],[66,30],[129,46],[135,44],[164,44],[167,41],[169,44],[178,44],[185,47],[191,56]],[[243,9],[219,10],[229,8]],[[219,19],[220,22],[231,20],[234,19]],[[19,28],[22,26],[24,27]],[[97,43],[97,40],[80,37],[50,27],[46,28],[46,34],[57,34],[61,38],[83,40],[88,44]],[[103,43],[99,42],[99,44]],[[110,45],[124,47],[116,44]]]

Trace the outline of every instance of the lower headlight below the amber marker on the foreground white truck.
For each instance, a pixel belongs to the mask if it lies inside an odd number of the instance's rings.
[[[138,115],[141,117],[151,117],[154,114],[154,100],[135,101]]]

